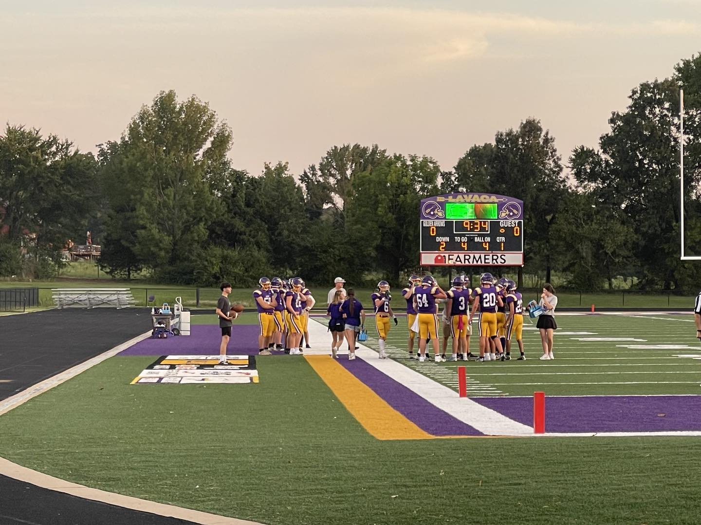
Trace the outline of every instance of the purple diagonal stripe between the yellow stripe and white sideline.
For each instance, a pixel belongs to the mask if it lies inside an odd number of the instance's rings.
[[[482,432],[430,404],[420,395],[358,358],[348,361],[339,356],[339,364],[365,383],[393,409],[429,434],[435,436],[481,436]]]

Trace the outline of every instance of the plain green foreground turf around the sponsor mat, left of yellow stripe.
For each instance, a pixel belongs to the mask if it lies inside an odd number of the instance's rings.
[[[701,439],[380,442],[301,358],[261,383],[128,385],[113,357],[0,417],[0,455],[269,524],[695,523]]]

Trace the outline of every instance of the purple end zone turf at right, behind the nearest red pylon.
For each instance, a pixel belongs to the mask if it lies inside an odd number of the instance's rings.
[[[524,425],[533,425],[531,397],[473,397]],[[701,430],[701,396],[545,396],[545,432]]]

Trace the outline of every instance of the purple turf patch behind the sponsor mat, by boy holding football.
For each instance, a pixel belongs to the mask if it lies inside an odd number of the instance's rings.
[[[238,325],[231,330],[226,353],[258,355],[258,325]],[[189,336],[149,337],[117,355],[215,355],[222,343],[222,329],[217,325],[191,325]]]

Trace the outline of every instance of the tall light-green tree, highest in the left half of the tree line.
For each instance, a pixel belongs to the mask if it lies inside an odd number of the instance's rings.
[[[128,243],[142,264],[161,278],[194,282],[205,260],[207,226],[222,212],[218,198],[228,181],[226,154],[231,130],[197,97],[184,102],[161,92],[132,119],[118,147],[100,151],[111,180],[108,187],[130,189],[135,241]],[[113,209],[121,197],[108,198]],[[113,200],[114,199],[114,200]],[[113,236],[124,238],[112,221]]]

